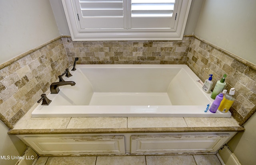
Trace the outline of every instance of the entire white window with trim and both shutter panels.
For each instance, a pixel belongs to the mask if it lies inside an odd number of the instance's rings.
[[[62,0],[73,41],[181,40],[192,0]]]

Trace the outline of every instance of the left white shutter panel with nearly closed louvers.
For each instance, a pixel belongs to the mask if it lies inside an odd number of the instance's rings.
[[[123,0],[75,0],[81,29],[124,29]]]

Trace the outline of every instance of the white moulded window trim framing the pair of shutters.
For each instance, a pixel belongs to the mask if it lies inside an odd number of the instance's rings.
[[[73,41],[182,40],[192,0],[182,0],[176,31],[81,32],[71,0],[62,0]],[[74,7],[75,8],[75,7]]]

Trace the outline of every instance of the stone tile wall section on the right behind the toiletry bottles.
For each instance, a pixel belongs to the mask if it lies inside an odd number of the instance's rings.
[[[236,89],[235,102],[230,109],[234,118],[243,125],[256,111],[256,66],[246,65],[227,51],[207,43],[198,37],[192,39],[186,64],[204,81],[213,74],[214,86],[224,74],[226,89]],[[214,88],[213,86],[213,88]],[[213,90],[212,88],[212,90]]]

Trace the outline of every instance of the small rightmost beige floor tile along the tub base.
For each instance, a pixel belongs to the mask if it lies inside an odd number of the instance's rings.
[[[194,155],[197,165],[221,165],[216,155]]]

